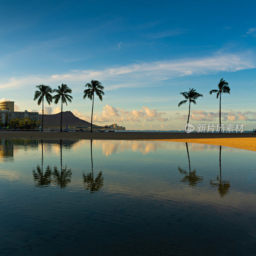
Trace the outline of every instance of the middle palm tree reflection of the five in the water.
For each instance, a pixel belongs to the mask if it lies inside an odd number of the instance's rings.
[[[91,159],[92,159],[92,140],[91,140]],[[103,187],[103,180],[104,178],[102,177],[101,171],[94,179],[93,162],[92,162],[92,172],[89,172],[87,174],[83,173],[84,188],[86,190],[90,190],[91,193],[99,191],[100,188]]]

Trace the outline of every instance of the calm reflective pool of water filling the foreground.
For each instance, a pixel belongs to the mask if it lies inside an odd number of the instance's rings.
[[[0,255],[255,255],[255,152],[0,139]]]

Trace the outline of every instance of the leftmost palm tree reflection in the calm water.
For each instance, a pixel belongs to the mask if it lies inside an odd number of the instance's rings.
[[[52,181],[52,168],[48,165],[46,171],[43,169],[44,154],[43,154],[43,140],[42,144],[42,166],[39,164],[36,166],[36,170],[33,170],[34,181],[36,182],[37,187],[46,187],[49,186]]]

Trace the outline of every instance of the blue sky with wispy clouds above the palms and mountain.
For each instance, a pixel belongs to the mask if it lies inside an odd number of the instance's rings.
[[[37,84],[64,83],[74,100],[64,110],[89,120],[82,99],[91,79],[105,86],[94,123],[128,129],[183,129],[188,106],[180,92],[204,98],[190,123],[218,123],[209,91],[220,78],[223,123],[256,128],[256,18],[254,1],[1,1],[0,99],[38,110]],[[52,104],[46,113],[57,113]],[[254,127],[255,126],[255,127]]]

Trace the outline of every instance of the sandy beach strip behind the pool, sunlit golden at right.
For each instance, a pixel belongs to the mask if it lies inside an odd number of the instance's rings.
[[[1,131],[0,138],[162,140],[220,145],[256,151],[256,133],[177,133],[177,132],[27,132]]]

